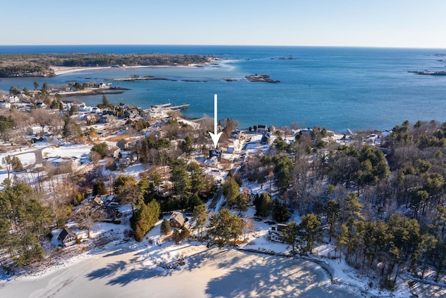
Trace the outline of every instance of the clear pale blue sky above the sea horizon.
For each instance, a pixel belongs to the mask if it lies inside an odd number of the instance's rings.
[[[8,0],[0,45],[446,48],[445,0]]]

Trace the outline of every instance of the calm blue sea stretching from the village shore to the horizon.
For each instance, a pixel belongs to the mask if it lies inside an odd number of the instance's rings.
[[[446,70],[446,50],[353,47],[258,47],[167,45],[0,46],[0,54],[160,52],[208,54],[222,58],[203,68],[112,68],[51,78],[3,78],[0,89],[33,89],[33,82],[67,84],[102,82],[107,78],[153,75],[172,81],[114,82],[131,89],[110,94],[110,102],[150,107],[160,103],[190,104],[187,117],[213,117],[218,94],[219,119],[231,117],[240,127],[267,124],[391,129],[405,120],[446,121],[446,76],[415,75],[410,70]],[[295,59],[274,59],[293,57]],[[270,75],[278,84],[249,82],[245,75]],[[226,82],[222,79],[236,79]],[[199,80],[204,82],[185,82]],[[74,98],[70,98],[74,99]],[[95,105],[102,96],[79,96]]]

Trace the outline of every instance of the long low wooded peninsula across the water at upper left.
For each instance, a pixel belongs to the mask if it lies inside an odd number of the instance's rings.
[[[57,67],[190,66],[215,57],[197,54],[6,54],[0,55],[0,77],[52,77]]]

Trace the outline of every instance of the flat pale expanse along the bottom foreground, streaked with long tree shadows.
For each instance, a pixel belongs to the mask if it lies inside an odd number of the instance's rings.
[[[177,269],[151,266],[125,246],[40,276],[22,276],[1,297],[360,297],[332,285],[312,262],[191,246]]]

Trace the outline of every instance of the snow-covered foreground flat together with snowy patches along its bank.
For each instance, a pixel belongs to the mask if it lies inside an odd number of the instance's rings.
[[[98,223],[95,238],[109,244],[89,251],[83,244],[63,248],[58,263],[33,275],[3,279],[1,297],[360,297],[332,285],[321,267],[305,260],[207,248],[198,241],[158,241],[159,221],[141,243],[125,242],[125,225]],[[110,232],[113,230],[113,232]],[[79,232],[79,231],[77,231]],[[85,236],[85,235],[84,235]],[[257,238],[250,246],[284,250]],[[79,252],[72,255],[70,251]],[[88,285],[88,286],[86,286]]]

